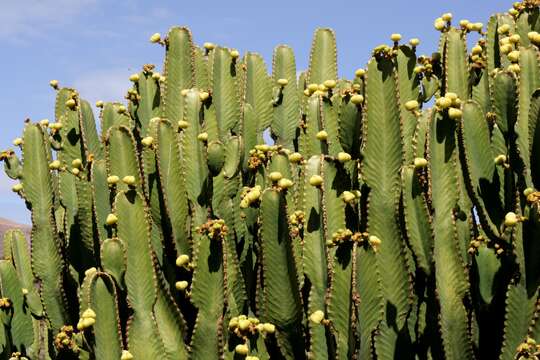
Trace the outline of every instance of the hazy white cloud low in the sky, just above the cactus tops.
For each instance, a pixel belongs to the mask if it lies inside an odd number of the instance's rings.
[[[124,95],[130,87],[127,69],[97,70],[85,73],[74,81],[82,98],[95,103],[103,101],[125,101]]]

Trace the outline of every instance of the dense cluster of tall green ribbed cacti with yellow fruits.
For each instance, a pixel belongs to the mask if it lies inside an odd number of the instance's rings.
[[[429,57],[394,34],[352,79],[331,29],[298,76],[174,27],[99,133],[51,82],[55,122],[0,153],[32,216],[0,358],[539,359],[539,4],[444,14]]]

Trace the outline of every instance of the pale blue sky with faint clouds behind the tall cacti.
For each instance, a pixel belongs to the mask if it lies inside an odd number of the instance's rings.
[[[452,12],[455,20],[487,23],[511,6],[503,0],[5,0],[0,12],[0,148],[11,146],[23,120],[53,119],[51,79],[79,90],[82,97],[122,100],[128,77],[142,64],[161,69],[163,48],[148,38],[173,25],[191,28],[206,41],[261,53],[270,63],[278,44],[291,45],[299,69],[307,66],[317,27],[336,31],[340,77],[351,78],[370,51],[389,43],[391,33],[418,37],[420,53],[436,48],[433,20]],[[0,217],[28,223],[13,182],[0,175]]]

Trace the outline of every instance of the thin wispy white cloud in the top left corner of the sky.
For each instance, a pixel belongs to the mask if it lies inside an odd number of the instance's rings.
[[[43,31],[73,22],[100,0],[10,0],[2,2],[0,38],[14,42],[42,37]],[[69,31],[69,29],[66,29]]]

